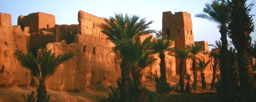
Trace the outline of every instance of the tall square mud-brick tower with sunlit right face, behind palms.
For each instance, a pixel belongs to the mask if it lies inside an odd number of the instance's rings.
[[[175,47],[183,47],[194,43],[192,32],[191,14],[187,12],[171,11],[163,12],[162,18],[163,35],[175,41]],[[180,59],[176,58],[176,73],[179,72]],[[191,61],[187,60],[184,65],[185,73],[191,68]]]

